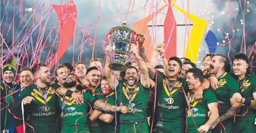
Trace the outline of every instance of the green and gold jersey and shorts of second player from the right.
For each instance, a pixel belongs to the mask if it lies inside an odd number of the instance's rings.
[[[222,74],[221,77],[218,78],[218,89],[213,90],[213,93],[217,96],[219,102],[219,116],[225,114],[229,108],[231,107],[230,98],[238,92],[240,93],[240,86],[237,80],[234,77],[226,72]],[[226,133],[234,132],[234,117],[230,117],[229,119],[222,122]],[[224,132],[223,126],[218,124],[212,131],[213,133]]]

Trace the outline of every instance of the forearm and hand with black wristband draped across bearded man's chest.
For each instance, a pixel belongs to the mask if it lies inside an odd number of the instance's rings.
[[[60,95],[60,96],[66,96],[66,92],[68,91],[69,89],[65,88],[65,87],[59,87],[56,92]],[[78,94],[76,92],[73,92],[71,94],[72,98],[75,99],[75,102],[77,104],[80,104],[80,103],[83,103],[84,102],[84,96],[81,95],[81,94]]]

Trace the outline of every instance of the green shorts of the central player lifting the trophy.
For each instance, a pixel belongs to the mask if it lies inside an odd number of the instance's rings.
[[[120,133],[149,133],[147,122],[120,124]]]

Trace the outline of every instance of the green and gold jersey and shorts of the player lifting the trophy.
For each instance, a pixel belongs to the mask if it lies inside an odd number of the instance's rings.
[[[135,88],[128,88],[126,81],[119,80],[116,89],[117,106],[122,102],[128,109],[126,114],[120,114],[120,133],[148,133],[146,108],[149,88],[145,88],[142,84],[138,84]]]

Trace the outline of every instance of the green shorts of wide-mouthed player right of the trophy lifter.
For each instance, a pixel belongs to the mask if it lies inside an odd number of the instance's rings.
[[[163,122],[157,120],[156,133],[185,133],[186,122]]]

